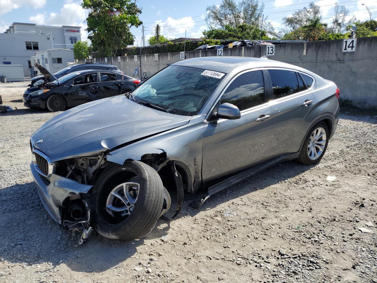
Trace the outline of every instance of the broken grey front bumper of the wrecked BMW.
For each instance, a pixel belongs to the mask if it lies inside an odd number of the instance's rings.
[[[86,194],[93,186],[80,184],[69,178],[64,178],[52,174],[49,178],[44,178],[30,164],[30,171],[34,178],[34,183],[44,208],[51,217],[59,224],[62,224],[62,206],[67,197],[75,197],[78,194]]]

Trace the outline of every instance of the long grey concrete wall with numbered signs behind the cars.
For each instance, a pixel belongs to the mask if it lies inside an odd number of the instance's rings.
[[[355,52],[342,52],[343,40],[275,45],[271,60],[282,61],[308,69],[337,84],[342,98],[348,98],[359,107],[377,106],[377,37],[357,38]],[[224,56],[261,57],[266,46],[223,49]],[[217,56],[217,50],[186,52],[185,58]],[[96,62],[118,66],[124,74],[149,78],[159,70],[180,60],[180,52],[96,58]],[[88,59],[94,62],[94,59]],[[136,67],[139,72],[133,75]],[[141,70],[141,71],[140,71]]]

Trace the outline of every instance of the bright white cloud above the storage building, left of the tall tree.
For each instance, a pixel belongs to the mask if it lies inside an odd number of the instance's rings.
[[[0,0],[1,1],[1,0]],[[51,12],[37,13],[29,17],[29,21],[38,25],[51,25],[51,26],[81,26],[81,40],[87,40],[86,20],[88,11],[81,7],[81,2],[66,1],[60,13]]]

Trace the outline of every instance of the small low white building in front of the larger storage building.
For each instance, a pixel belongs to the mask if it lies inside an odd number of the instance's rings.
[[[34,66],[34,62],[37,62],[48,69],[52,74],[66,68],[68,62],[75,62],[73,50],[62,48],[35,52],[35,55],[30,57],[30,60],[32,66]],[[35,75],[40,75],[37,68],[34,68],[34,71],[37,72]]]

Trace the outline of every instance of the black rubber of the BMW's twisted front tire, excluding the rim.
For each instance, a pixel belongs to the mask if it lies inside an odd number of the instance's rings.
[[[116,221],[106,211],[107,197],[113,188],[130,180],[139,183],[135,206],[124,220]],[[164,203],[164,185],[157,172],[143,162],[110,165],[98,177],[90,201],[92,224],[99,234],[115,240],[139,239],[156,225]]]

